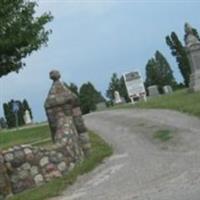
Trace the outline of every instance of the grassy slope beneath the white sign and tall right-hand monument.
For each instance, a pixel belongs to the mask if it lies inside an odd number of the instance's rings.
[[[185,112],[200,117],[200,92],[189,93],[187,90],[179,90],[171,95],[162,95],[148,99],[147,102],[139,102],[135,105],[123,104],[113,109],[121,108],[161,108]]]

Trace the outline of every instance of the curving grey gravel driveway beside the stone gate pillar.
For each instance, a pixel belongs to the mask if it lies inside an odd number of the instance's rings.
[[[114,110],[85,122],[112,157],[56,200],[200,200],[200,120],[168,110]],[[161,142],[158,130],[173,138]]]

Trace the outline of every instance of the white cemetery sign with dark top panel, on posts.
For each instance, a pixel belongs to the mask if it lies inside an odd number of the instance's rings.
[[[134,98],[143,98],[146,101],[146,91],[144,82],[139,72],[129,72],[123,75],[126,89],[131,101],[134,103]]]

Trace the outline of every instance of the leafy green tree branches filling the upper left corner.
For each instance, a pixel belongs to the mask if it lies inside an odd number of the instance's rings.
[[[44,26],[52,20],[50,13],[35,15],[36,1],[0,1],[0,77],[18,72],[23,59],[47,44],[51,30]]]

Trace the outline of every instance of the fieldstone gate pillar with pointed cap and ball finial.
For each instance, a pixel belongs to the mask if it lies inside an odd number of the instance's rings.
[[[89,136],[82,119],[77,96],[60,81],[59,71],[50,72],[53,84],[45,101],[46,114],[54,143],[65,144],[77,157],[89,153]],[[81,144],[81,145],[80,145]]]

